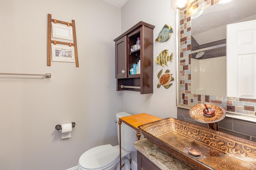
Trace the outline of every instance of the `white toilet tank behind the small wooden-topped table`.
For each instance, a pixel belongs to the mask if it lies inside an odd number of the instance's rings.
[[[116,113],[116,121],[119,121],[120,117],[126,117],[126,116],[131,116],[131,114],[126,113],[126,112],[120,112]],[[130,152],[135,152],[136,149],[133,146],[133,143],[138,140],[136,136],[137,131],[134,130],[133,128],[129,127],[125,123],[122,122],[121,124],[121,147],[127,151]],[[117,123],[117,136],[118,136],[118,143],[120,144],[119,141],[119,125]]]

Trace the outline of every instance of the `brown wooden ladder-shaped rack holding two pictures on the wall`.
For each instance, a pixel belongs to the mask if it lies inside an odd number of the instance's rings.
[[[60,41],[55,41],[52,40],[52,22],[60,23],[60,24],[66,24],[67,26],[72,26],[73,30],[73,43],[70,42],[60,42]],[[47,35],[47,66],[51,66],[51,45],[54,43],[58,44],[64,44],[64,45],[69,45],[69,46],[74,46],[74,52],[75,52],[75,62],[76,62],[76,67],[79,67],[78,64],[78,51],[77,51],[77,43],[76,43],[76,26],[75,26],[75,20],[72,20],[72,23],[69,22],[63,22],[59,20],[52,19],[52,15],[48,14],[48,35]]]

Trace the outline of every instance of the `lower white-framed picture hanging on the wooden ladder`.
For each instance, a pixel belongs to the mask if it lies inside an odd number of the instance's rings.
[[[52,44],[52,61],[75,62],[75,48]]]

